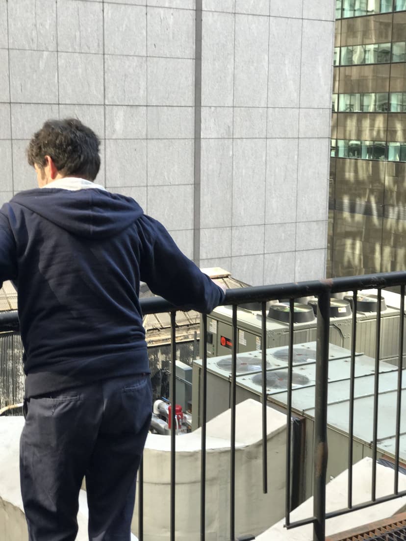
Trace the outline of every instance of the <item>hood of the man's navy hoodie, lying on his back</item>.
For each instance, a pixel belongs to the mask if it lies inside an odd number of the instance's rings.
[[[104,189],[70,191],[36,188],[15,195],[10,205],[21,205],[77,236],[100,239],[119,234],[142,214],[131,197]]]

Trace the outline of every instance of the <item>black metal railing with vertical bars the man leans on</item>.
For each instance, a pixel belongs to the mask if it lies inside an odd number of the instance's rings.
[[[287,480],[287,494],[286,494],[286,526],[287,527],[297,527],[303,524],[313,524],[313,539],[315,541],[324,541],[325,538],[325,520],[333,516],[338,516],[345,512],[349,512],[354,509],[361,508],[359,505],[353,505],[351,496],[349,496],[348,508],[344,510],[339,510],[337,512],[326,513],[326,502],[325,502],[325,481],[326,481],[326,469],[327,469],[327,457],[328,457],[328,446],[327,446],[327,389],[328,389],[328,362],[326,359],[329,358],[329,308],[330,308],[330,296],[333,293],[342,293],[350,291],[353,293],[353,302],[356,306],[356,294],[359,289],[369,289],[377,288],[378,292],[382,288],[402,286],[401,288],[401,313],[403,312],[404,307],[404,293],[406,284],[406,272],[391,272],[391,273],[378,273],[378,274],[368,274],[363,276],[348,276],[343,278],[335,279],[325,279],[325,280],[313,280],[306,282],[298,283],[284,283],[280,285],[271,285],[271,286],[257,286],[257,287],[248,287],[242,289],[229,289],[226,291],[225,300],[222,304],[224,305],[233,305],[233,341],[232,341],[232,430],[231,430],[231,449],[235,452],[235,372],[236,372],[236,355],[237,355],[237,305],[244,304],[246,302],[260,302],[262,304],[262,313],[265,314],[265,302],[269,300],[276,300],[280,298],[290,299],[290,339],[289,339],[289,363],[288,363],[288,375],[289,375],[289,386],[291,386],[291,377],[292,377],[292,348],[293,348],[293,332],[292,332],[292,321],[293,321],[293,299],[315,295],[318,296],[318,318],[317,318],[317,352],[316,352],[316,401],[315,401],[315,445],[314,445],[314,499],[313,499],[313,517],[307,519],[299,520],[296,522],[290,522],[290,483]],[[378,299],[380,296],[378,295]],[[141,299],[141,310],[143,314],[153,314],[153,313],[162,313],[169,312],[171,313],[171,323],[172,323],[172,369],[175,365],[175,313],[176,310],[182,309],[182,307],[175,307],[168,301],[160,298],[153,297],[148,299]],[[378,301],[378,316],[381,313],[381,302]],[[356,311],[353,312],[353,318],[355,318]],[[401,337],[400,337],[400,352],[399,352],[399,362],[398,362],[398,391],[400,388],[401,381],[400,374],[402,370],[402,360],[403,360],[403,318],[401,318],[402,324],[400,326]],[[204,328],[206,328],[207,322],[206,317],[203,319]],[[353,319],[353,328],[356,328],[356,321]],[[379,322],[377,325],[379,333]],[[0,332],[4,331],[18,331],[18,316],[17,311],[9,311],[0,313]],[[265,334],[266,334],[266,325],[262,325],[262,344],[266,344]],[[263,346],[263,349],[265,347]],[[203,366],[206,367],[207,360],[207,348],[204,347],[204,358]],[[263,354],[264,355],[264,354]],[[376,364],[375,367],[379,367],[379,337],[377,337],[376,345]],[[350,376],[350,390],[351,398],[353,400],[353,379],[354,374],[354,362],[355,362],[355,340],[352,341],[351,349],[351,376]],[[265,366],[265,363],[264,363]],[[174,372],[174,370],[173,370]],[[378,407],[378,371],[376,370],[375,375],[375,389],[374,389],[374,440],[373,444],[373,454],[376,458],[376,438],[377,438],[377,407]],[[263,369],[263,378],[265,381],[265,370]],[[266,394],[266,386],[263,381],[263,393]],[[171,379],[172,386],[172,396],[175,394],[175,376],[172,374]],[[290,390],[291,391],[291,390]],[[204,393],[206,392],[206,382],[204,382]],[[289,393],[289,389],[288,389]],[[266,401],[266,396],[263,396],[263,403]],[[290,395],[289,395],[290,396]],[[400,396],[398,396],[397,402],[397,430],[400,426],[400,407],[401,401]],[[291,398],[288,400],[287,404],[287,423],[290,425],[290,418],[292,413],[292,404]],[[172,426],[175,426],[175,408],[172,408]],[[204,413],[205,420],[205,413]],[[263,407],[263,438],[266,438],[265,433],[266,428],[266,407]],[[350,435],[352,436],[353,428],[353,407],[350,407]],[[174,485],[175,479],[175,460],[174,460],[174,451],[175,451],[175,438],[174,431],[172,431],[173,437],[171,438],[171,449],[173,452],[173,459],[171,462],[171,478]],[[288,434],[290,434],[290,426],[288,428]],[[204,531],[204,513],[205,513],[205,489],[204,489],[204,477],[205,477],[205,438],[206,433],[202,431],[202,505],[201,505],[201,530]],[[350,441],[349,448],[349,490],[352,489],[352,438]],[[290,448],[289,448],[290,450]],[[267,471],[266,471],[266,444],[263,445],[263,464],[264,464],[264,479],[263,486],[264,492],[267,490]],[[287,452],[287,469],[290,468],[290,452]],[[396,459],[395,464],[399,464],[399,445],[398,445],[398,434],[396,442]],[[376,463],[372,465],[372,475],[373,481],[376,480]],[[392,496],[386,496],[384,498],[377,498],[375,493],[374,482],[372,483],[372,494],[371,502],[366,505],[373,505],[375,503],[387,501],[395,497],[404,496],[404,491],[398,490],[397,484],[397,471],[395,474],[395,494]],[[231,510],[230,510],[230,532],[231,539],[234,539],[234,479],[235,479],[235,461],[231,457]],[[171,541],[175,538],[175,487],[172,487],[171,490]],[[142,538],[142,535],[141,535]],[[204,533],[202,534],[202,539],[204,539]]]

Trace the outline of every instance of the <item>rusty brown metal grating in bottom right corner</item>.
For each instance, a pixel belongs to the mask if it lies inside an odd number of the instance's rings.
[[[406,541],[406,513],[398,514],[356,530],[326,537],[326,541]]]

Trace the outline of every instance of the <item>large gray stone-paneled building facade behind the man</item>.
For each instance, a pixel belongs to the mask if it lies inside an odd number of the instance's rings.
[[[201,267],[325,275],[334,0],[0,0],[1,202],[47,118]]]

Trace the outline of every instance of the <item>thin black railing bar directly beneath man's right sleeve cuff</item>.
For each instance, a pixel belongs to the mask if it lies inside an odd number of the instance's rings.
[[[202,381],[202,417],[201,417],[201,474],[200,474],[200,539],[205,541],[206,531],[206,420],[207,420],[207,315],[202,314],[203,335],[203,381]]]

